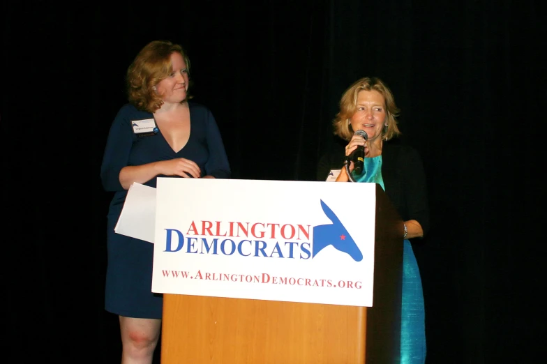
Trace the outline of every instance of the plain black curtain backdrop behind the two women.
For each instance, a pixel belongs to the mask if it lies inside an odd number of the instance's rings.
[[[427,362],[543,362],[544,1],[5,1],[0,13],[6,363],[119,363],[99,168],[126,69],[156,39],[186,48],[234,179],[315,180],[345,88],[387,82],[428,178],[433,227],[414,243]]]

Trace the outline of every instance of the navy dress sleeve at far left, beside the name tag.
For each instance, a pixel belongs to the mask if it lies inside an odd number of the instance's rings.
[[[119,172],[128,165],[133,145],[133,129],[130,125],[128,106],[122,107],[108,132],[103,163],[100,165],[100,180],[107,191],[121,191]]]

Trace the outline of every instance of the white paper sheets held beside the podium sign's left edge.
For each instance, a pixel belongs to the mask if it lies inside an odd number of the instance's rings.
[[[153,243],[155,227],[156,188],[133,183],[114,232]]]

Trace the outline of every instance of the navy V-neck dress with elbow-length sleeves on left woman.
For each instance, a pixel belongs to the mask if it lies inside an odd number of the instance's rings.
[[[200,166],[202,174],[230,178],[230,165],[213,114],[189,102],[190,137],[178,152],[156,134],[139,137],[131,121],[153,119],[153,114],[124,105],[110,127],[100,177],[103,188],[114,192],[107,213],[107,274],[105,310],[125,317],[161,319],[163,297],[153,294],[153,244],[114,232],[127,190],[121,187],[119,172],[128,165],[144,165],[160,160],[186,158]],[[165,177],[165,176],[160,176]],[[156,177],[157,178],[157,177]],[[145,185],[156,187],[156,178]]]

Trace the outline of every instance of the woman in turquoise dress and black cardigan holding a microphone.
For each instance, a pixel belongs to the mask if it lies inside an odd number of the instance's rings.
[[[363,169],[352,180],[379,183],[403,218],[403,292],[400,332],[400,363],[423,364],[426,359],[426,328],[421,278],[411,238],[422,238],[429,228],[426,176],[421,158],[410,146],[389,142],[400,134],[394,96],[378,78],[354,82],[340,99],[334,132],[345,139],[345,156],[352,160],[364,148]],[[367,139],[357,130],[366,132]],[[357,132],[357,133],[356,133]],[[341,169],[337,182],[350,177]]]

